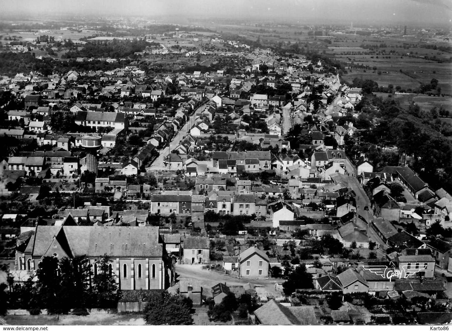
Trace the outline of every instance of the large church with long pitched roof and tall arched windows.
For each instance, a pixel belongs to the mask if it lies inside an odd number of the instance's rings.
[[[156,226],[38,225],[28,245],[16,251],[15,265],[23,266],[25,272],[36,271],[43,257],[84,256],[95,277],[104,254],[111,259],[108,272],[119,290],[164,290],[173,281],[171,260]]]

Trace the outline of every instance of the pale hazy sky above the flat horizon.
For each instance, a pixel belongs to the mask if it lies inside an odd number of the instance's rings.
[[[451,24],[451,0],[0,0],[2,12]]]

